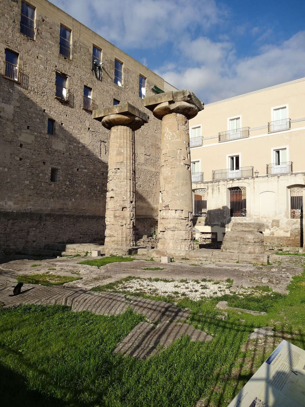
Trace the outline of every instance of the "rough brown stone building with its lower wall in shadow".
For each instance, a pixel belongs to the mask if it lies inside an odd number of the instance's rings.
[[[109,134],[92,110],[130,102],[136,228],[156,229],[160,123],[145,95],[175,90],[46,0],[0,3],[0,247],[103,241]]]

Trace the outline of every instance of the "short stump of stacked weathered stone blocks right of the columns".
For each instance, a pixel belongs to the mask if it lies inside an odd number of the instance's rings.
[[[224,235],[222,252],[263,254],[264,231],[264,223],[235,222]]]

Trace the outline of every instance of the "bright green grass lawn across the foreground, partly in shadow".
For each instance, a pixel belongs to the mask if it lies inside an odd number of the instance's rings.
[[[63,306],[0,309],[1,405],[192,407],[207,398],[210,406],[225,407],[282,338],[305,349],[305,273],[288,289],[273,297],[267,287],[256,297],[227,295],[229,305],[268,314],[229,311],[224,321],[214,309],[223,298],[178,300],[192,310],[189,323],[214,340],[182,337],[145,361],[112,353],[144,320],[131,309],[111,317]],[[262,326],[273,326],[274,337],[247,344],[248,334]]]

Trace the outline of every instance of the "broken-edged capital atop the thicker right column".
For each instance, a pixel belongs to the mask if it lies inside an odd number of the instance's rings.
[[[144,99],[144,106],[153,112],[158,119],[170,113],[184,114],[188,119],[203,110],[203,103],[189,90],[164,92],[148,96]]]

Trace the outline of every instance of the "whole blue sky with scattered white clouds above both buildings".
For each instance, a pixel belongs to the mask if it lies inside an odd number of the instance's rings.
[[[205,103],[305,77],[305,1],[52,0]]]

